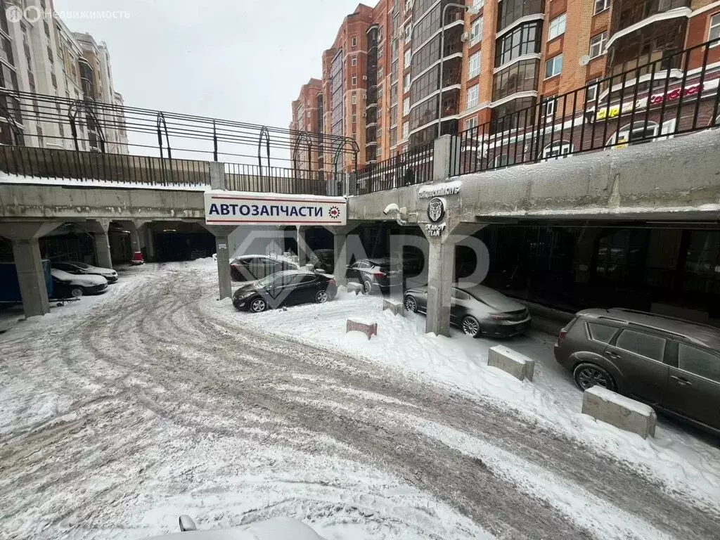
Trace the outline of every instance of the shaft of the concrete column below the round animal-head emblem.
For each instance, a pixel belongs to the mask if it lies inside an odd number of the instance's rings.
[[[455,243],[440,238],[430,238],[428,242],[428,314],[425,331],[449,336]]]

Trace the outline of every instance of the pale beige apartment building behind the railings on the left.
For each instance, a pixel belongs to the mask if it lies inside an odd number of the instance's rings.
[[[9,9],[32,17],[9,19]],[[102,150],[104,145],[108,152],[127,153],[126,121],[112,86],[107,46],[71,32],[52,0],[0,0],[0,12],[2,48],[9,51],[1,57],[8,76],[0,81],[6,91],[0,101],[14,105],[12,114],[3,114],[0,104],[0,143],[73,150],[74,128],[78,150]],[[5,78],[10,82],[5,84]],[[12,96],[12,91],[70,102]],[[96,102],[109,107],[98,111]],[[13,132],[8,116],[14,117]]]

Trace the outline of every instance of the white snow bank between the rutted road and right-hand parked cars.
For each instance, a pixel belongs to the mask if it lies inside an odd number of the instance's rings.
[[[720,503],[720,449],[693,436],[686,426],[660,420],[655,438],[633,433],[580,414],[582,392],[554,360],[554,339],[542,333],[503,341],[473,339],[457,329],[451,338],[425,333],[423,315],[406,318],[382,311],[382,297],[356,296],[341,289],[328,305],[305,305],[261,314],[238,313],[229,300],[217,307],[228,320],[242,318],[320,346],[394,366],[433,382],[510,405],[569,433],[608,455],[621,456],[674,489]],[[377,322],[378,335],[346,333],[346,320]],[[534,382],[518,381],[487,366],[487,351],[498,343],[536,361]]]

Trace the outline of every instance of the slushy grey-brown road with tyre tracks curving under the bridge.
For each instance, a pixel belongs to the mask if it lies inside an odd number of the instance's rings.
[[[200,302],[209,294],[202,286],[207,280],[193,266],[148,266],[140,277],[48,335],[30,340],[11,330],[0,336],[6,359],[0,374],[26,380],[35,396],[25,397],[22,407],[30,413],[42,406],[44,392],[59,403],[42,420],[0,435],[1,538],[142,537],[153,526],[135,529],[127,516],[142,515],[143,504],[157,501],[138,492],[153,492],[149,484],[163,500],[197,488],[201,493],[193,496],[202,497],[204,487],[211,490],[204,486],[207,476],[193,467],[174,475],[173,464],[187,462],[187,453],[208,441],[222,446],[230,440],[377,468],[500,539],[608,537],[592,525],[598,519],[593,505],[569,516],[528,492],[518,477],[445,444],[421,423],[479,438],[559,485],[581,487],[588,500],[654,527],[649,536],[628,527],[618,538],[718,538],[718,508],[683,500],[544,424],[377,364],[272,336],[241,318],[236,325],[212,318]],[[202,458],[192,455],[202,469]],[[232,453],[225,459],[213,470],[227,476]],[[163,481],[163,474],[171,477]],[[274,516],[292,504],[258,502],[242,520]],[[323,508],[351,523],[382,526],[382,537],[404,538],[400,533],[408,530],[441,537],[357,505],[338,501]],[[227,516],[219,523],[238,524]],[[617,526],[625,530],[624,523]],[[467,528],[444,538],[473,534]]]

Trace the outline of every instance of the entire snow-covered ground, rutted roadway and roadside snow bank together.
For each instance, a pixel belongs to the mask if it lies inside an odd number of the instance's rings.
[[[685,540],[720,523],[720,449],[583,417],[547,336],[503,342],[537,362],[519,382],[487,367],[495,342],[428,336],[379,297],[237,312],[210,258],[2,320],[3,539],[140,539],[180,513],[294,517],[328,540]]]

